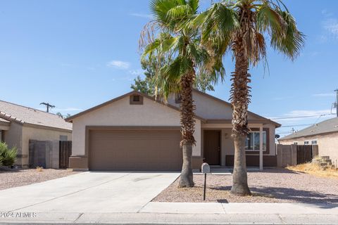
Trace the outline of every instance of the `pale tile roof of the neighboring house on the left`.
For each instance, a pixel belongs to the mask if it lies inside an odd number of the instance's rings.
[[[0,101],[0,117],[20,123],[35,124],[44,127],[72,130],[72,124],[52,113],[46,113],[23,105]]]

